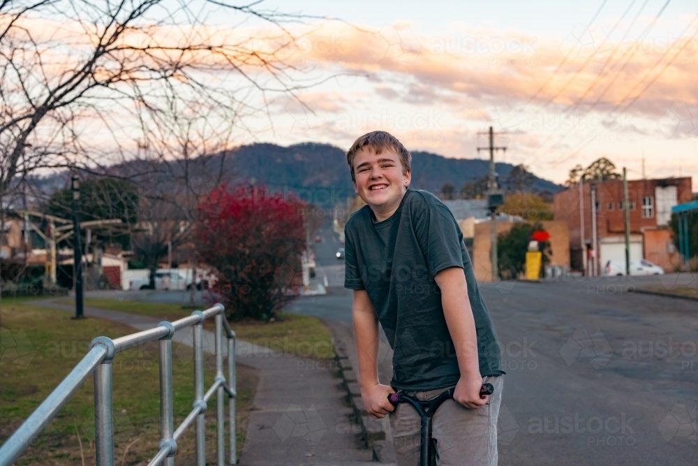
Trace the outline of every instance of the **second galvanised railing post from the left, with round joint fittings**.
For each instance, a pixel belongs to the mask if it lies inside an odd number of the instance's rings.
[[[162,449],[165,445],[170,446],[170,453],[168,453],[164,464],[174,466],[174,454],[177,453],[177,442],[174,442],[172,437],[174,434],[172,400],[172,336],[174,335],[174,326],[170,322],[161,322],[158,323],[158,326],[170,330],[168,335],[158,341],[158,349],[160,350],[160,444],[158,449]]]

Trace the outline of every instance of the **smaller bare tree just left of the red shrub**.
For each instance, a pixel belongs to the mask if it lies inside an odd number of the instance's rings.
[[[177,238],[175,246],[189,245],[191,268],[190,303],[194,304],[198,254],[191,245],[191,230],[197,220],[200,198],[211,189],[230,182],[225,159],[233,144],[237,122],[235,109],[211,106],[198,101],[167,102],[162,108],[149,109],[142,121],[146,136],[143,151],[151,169],[140,182],[146,198],[165,206],[172,219],[179,219],[178,230],[158,235],[152,229],[138,233],[137,242],[146,239],[153,254],[167,250],[168,236]],[[145,182],[147,180],[147,182]],[[149,188],[146,188],[149,187]],[[162,224],[162,222],[161,222]],[[157,261],[157,258],[151,260]],[[151,286],[154,285],[151,271]]]

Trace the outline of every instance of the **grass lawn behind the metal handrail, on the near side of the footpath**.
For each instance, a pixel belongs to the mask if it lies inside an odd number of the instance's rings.
[[[114,307],[123,305],[118,301]],[[91,304],[89,304],[91,305]],[[133,304],[132,304],[133,305]],[[125,309],[119,309],[125,310]],[[183,315],[191,310],[181,310]],[[118,337],[133,333],[133,328],[101,319],[70,319],[67,312],[37,307],[31,300],[3,299],[3,349],[0,360],[0,441],[4,441],[36,409],[87,352],[87,345],[98,335]],[[179,425],[193,402],[193,365],[191,348],[173,345],[175,425]],[[214,378],[213,358],[208,358],[206,385]],[[117,464],[147,463],[157,451],[159,440],[158,347],[151,342],[138,349],[124,351],[114,358],[114,443]],[[239,428],[238,448],[244,444],[244,425],[258,382],[258,374],[244,365],[237,367]],[[215,403],[209,403],[215,406]],[[227,412],[227,409],[226,409]],[[207,451],[215,455],[215,410],[207,410],[209,430]],[[78,389],[52,423],[25,451],[17,465],[82,464],[80,433],[86,465],[94,464],[94,398],[92,379]],[[193,430],[180,439],[178,462],[193,458]]]

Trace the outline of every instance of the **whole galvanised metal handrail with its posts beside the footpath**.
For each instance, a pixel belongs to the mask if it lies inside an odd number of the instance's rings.
[[[204,347],[203,321],[215,316],[216,379],[204,393]],[[194,333],[194,391],[192,411],[174,430],[174,407],[172,406],[172,337],[177,330],[193,326]],[[223,376],[223,333],[228,340],[228,380]],[[96,466],[114,465],[114,421],[112,409],[112,360],[121,351],[139,344],[158,340],[160,355],[160,432],[158,453],[149,466],[165,464],[174,466],[177,440],[196,423],[196,465],[205,466],[205,417],[206,403],[216,393],[216,464],[225,465],[225,419],[224,398],[228,398],[228,423],[230,424],[230,464],[237,463],[235,442],[235,332],[230,329],[223,316],[223,305],[216,304],[205,311],[194,311],[191,316],[174,322],[163,321],[158,326],[142,332],[125,335],[114,340],[96,337],[90,349],[70,371],[68,376],[34,410],[15,433],[0,446],[0,466],[11,466],[27,446],[54,418],[70,397],[94,374],[95,450]],[[224,396],[227,395],[227,397]]]

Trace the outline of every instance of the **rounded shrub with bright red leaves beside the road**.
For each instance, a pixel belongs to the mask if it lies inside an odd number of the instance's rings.
[[[269,319],[293,298],[305,248],[304,204],[265,187],[219,187],[198,205],[200,259],[230,319]],[[302,283],[302,280],[301,280]]]

